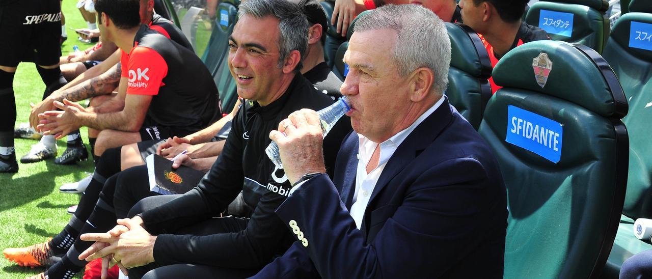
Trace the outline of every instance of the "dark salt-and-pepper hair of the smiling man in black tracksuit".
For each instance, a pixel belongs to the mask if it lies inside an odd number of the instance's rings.
[[[286,0],[246,0],[238,8],[238,18],[242,16],[265,18],[273,16],[278,20],[278,68],[282,68],[285,59],[293,50],[301,53],[301,61],[295,68],[299,72],[308,50],[308,20],[301,8]]]

